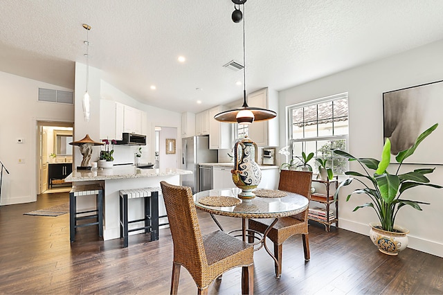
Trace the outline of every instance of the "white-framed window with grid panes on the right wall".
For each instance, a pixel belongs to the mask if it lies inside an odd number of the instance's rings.
[[[314,158],[327,160],[334,175],[343,175],[347,159],[337,157],[333,149],[347,150],[348,108],[347,93],[287,107],[289,118],[289,148],[296,163],[302,152],[314,152]],[[314,159],[309,165],[318,172]]]

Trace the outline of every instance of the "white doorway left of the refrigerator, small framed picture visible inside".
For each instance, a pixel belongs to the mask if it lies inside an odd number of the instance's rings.
[[[155,127],[155,168],[180,168],[177,127]]]

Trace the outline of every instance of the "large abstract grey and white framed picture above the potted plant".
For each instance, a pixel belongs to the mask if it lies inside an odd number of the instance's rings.
[[[383,93],[383,139],[390,139],[391,153],[412,147],[419,134],[439,123],[404,163],[442,165],[442,109],[443,81]]]

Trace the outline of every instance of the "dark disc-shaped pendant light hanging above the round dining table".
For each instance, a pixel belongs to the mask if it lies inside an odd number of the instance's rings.
[[[234,12],[232,19],[235,23],[239,23],[243,19],[243,105],[236,109],[222,111],[214,116],[215,120],[226,123],[251,124],[253,121],[262,121],[275,118],[277,114],[270,109],[262,109],[260,107],[249,107],[246,102],[246,57],[244,46],[244,3],[246,0],[232,0],[234,3]],[[238,9],[235,5],[238,5]],[[239,9],[243,6],[243,12]]]

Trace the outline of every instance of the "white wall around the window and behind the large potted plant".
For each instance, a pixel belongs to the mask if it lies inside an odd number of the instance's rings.
[[[383,147],[382,93],[443,80],[442,52],[443,41],[435,42],[384,60],[280,91],[280,114],[285,114],[287,105],[347,91],[349,92],[350,122],[349,152],[356,157],[380,159]],[[281,146],[286,145],[286,125],[284,116],[280,117]],[[439,128],[443,128],[443,125],[440,125]],[[442,142],[443,138],[433,138],[433,135],[426,138],[426,141]],[[409,171],[421,167],[409,165],[404,166],[403,169]],[[350,168],[351,170],[359,169],[355,163],[351,163]],[[443,185],[443,167],[437,166],[435,172],[429,175],[429,179],[434,184]],[[356,195],[349,202],[345,202],[345,193],[347,195],[350,192],[351,189],[343,190],[340,196],[340,227],[368,235],[367,224],[377,221],[377,216],[370,208],[352,212],[355,206],[368,202],[369,199]],[[406,193],[404,193],[405,199],[417,199],[431,203],[431,205],[423,205],[423,211],[416,211],[409,206],[399,211],[396,223],[410,230],[409,247],[443,257],[441,229],[443,224],[443,190],[418,187]]]

